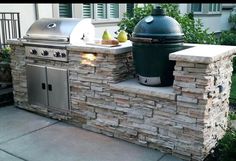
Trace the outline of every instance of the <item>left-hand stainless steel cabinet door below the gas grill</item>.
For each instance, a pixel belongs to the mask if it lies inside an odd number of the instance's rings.
[[[46,67],[27,64],[26,78],[28,88],[28,101],[30,104],[47,105],[47,78]]]

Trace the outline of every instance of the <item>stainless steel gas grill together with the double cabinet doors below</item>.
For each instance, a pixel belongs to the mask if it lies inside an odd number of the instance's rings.
[[[50,60],[26,64],[28,103],[56,111],[69,110],[68,45],[86,44],[94,40],[95,28],[91,19],[43,18],[28,29],[25,54],[28,59]],[[54,66],[60,61],[61,65]]]

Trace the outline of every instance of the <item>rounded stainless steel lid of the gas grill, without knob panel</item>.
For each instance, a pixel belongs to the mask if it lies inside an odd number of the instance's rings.
[[[55,41],[78,44],[94,39],[95,28],[91,19],[41,18],[35,21],[24,38],[27,41]]]

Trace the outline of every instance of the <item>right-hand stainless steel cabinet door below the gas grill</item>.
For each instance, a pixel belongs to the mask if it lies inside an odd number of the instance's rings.
[[[68,71],[47,67],[49,106],[63,110],[69,109]]]

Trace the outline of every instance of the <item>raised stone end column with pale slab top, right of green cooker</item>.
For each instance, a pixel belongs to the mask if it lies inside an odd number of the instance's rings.
[[[177,125],[180,125],[182,137],[185,137],[176,150],[196,160],[208,154],[227,128],[231,56],[236,51],[234,48],[228,52],[224,48],[202,45],[170,56],[170,59],[176,60],[173,73],[173,88],[177,94],[176,116],[181,115],[183,119]]]

